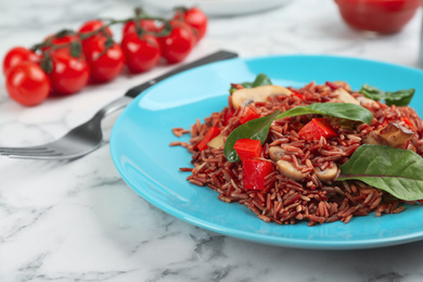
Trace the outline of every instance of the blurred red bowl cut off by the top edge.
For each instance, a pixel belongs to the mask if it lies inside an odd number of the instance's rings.
[[[399,31],[415,14],[421,0],[335,0],[352,28],[380,34]]]

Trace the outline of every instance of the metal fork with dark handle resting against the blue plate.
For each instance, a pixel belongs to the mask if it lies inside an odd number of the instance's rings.
[[[81,157],[101,146],[103,140],[101,120],[103,117],[125,107],[132,101],[133,98],[141,94],[145,89],[187,69],[236,56],[238,54],[233,52],[218,51],[190,64],[182,65],[157,78],[129,89],[124,97],[106,104],[97,112],[90,120],[72,129],[56,141],[36,146],[0,148],[0,155],[33,159],[72,159]]]

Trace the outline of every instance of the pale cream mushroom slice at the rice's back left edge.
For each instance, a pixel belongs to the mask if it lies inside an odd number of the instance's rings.
[[[291,95],[290,89],[281,86],[258,86],[255,88],[243,88],[232,93],[232,105],[236,110],[254,102],[266,102],[270,95]]]

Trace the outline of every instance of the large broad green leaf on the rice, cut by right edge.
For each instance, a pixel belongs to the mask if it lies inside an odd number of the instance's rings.
[[[361,145],[341,166],[338,180],[356,179],[384,190],[397,198],[423,198],[423,158],[403,149]]]

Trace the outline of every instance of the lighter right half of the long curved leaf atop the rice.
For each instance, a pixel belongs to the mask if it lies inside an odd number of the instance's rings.
[[[277,116],[275,119],[287,116],[320,114],[370,124],[373,114],[363,106],[350,103],[316,103],[308,106],[297,106]]]

